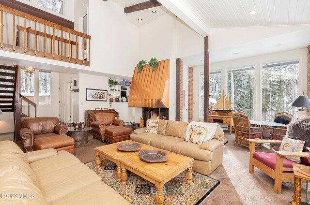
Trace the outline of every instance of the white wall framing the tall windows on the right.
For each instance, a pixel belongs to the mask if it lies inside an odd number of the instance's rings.
[[[261,70],[264,63],[272,63],[272,62],[281,62],[286,60],[299,60],[299,95],[302,95],[304,90],[307,90],[307,48],[273,53],[269,55],[256,56],[246,59],[238,59],[233,61],[226,61],[221,63],[215,63],[210,65],[210,71],[222,71],[222,88],[225,89],[227,94],[227,83],[226,83],[226,75],[227,69],[230,68],[238,68],[254,65],[255,66],[255,79],[254,85],[255,88],[259,87],[259,89],[255,89],[254,93],[254,119],[260,120],[262,117],[262,105],[261,105]],[[198,66],[193,68],[193,121],[203,120],[199,117],[200,111],[200,85],[199,85],[199,75],[203,73],[203,66]],[[304,112],[299,112],[299,116],[306,115]]]

